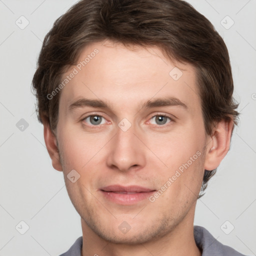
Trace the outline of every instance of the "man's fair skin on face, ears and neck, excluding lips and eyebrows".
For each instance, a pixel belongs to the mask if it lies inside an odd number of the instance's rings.
[[[95,48],[99,52],[61,90],[56,135],[43,123],[52,165],[63,171],[81,216],[82,255],[201,255],[193,238],[196,199],[204,169],[216,168],[229,149],[232,121],[220,121],[205,134],[192,65],[172,62],[158,47],[109,40],[87,45],[77,62]],[[176,81],[169,75],[174,66],[183,73]],[[100,99],[109,108],[69,111],[80,97]],[[162,97],[176,97],[187,108],[141,108]],[[103,116],[100,124],[84,119],[93,114]],[[159,124],[162,114],[172,119],[163,117],[166,122]],[[126,131],[118,126],[123,118],[131,124]],[[200,156],[153,202],[120,205],[98,190],[111,184],[161,189],[198,151]],[[74,183],[67,178],[72,169],[80,175]],[[118,228],[123,221],[131,227],[125,234]]]

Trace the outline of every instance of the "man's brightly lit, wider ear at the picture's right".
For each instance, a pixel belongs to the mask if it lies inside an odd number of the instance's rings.
[[[232,119],[221,120],[216,124],[206,145],[204,169],[213,170],[220,164],[229,150],[233,126]]]

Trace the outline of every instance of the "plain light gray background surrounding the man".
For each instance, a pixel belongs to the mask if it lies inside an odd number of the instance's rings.
[[[46,151],[30,91],[42,40],[74,2],[0,0],[1,256],[58,255],[81,235],[62,172],[53,169]],[[230,150],[197,201],[194,223],[241,253],[256,255],[256,0],[189,2],[227,45],[241,112]],[[25,22],[29,24],[21,29]],[[20,221],[29,226],[27,231]]]

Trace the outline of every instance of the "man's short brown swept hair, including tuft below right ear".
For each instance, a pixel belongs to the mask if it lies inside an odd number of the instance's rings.
[[[62,73],[76,64],[82,48],[110,39],[124,45],[158,46],[170,59],[192,64],[206,134],[215,122],[237,124],[238,104],[228,51],[210,21],[183,0],[80,0],[60,16],[46,34],[32,85],[37,116],[55,133],[60,92],[47,95]],[[205,170],[201,191],[216,169]],[[199,196],[200,197],[200,196]]]

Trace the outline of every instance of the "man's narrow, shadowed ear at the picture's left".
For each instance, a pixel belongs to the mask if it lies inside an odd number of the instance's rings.
[[[59,151],[57,147],[57,139],[56,136],[50,130],[50,125],[48,122],[43,122],[43,136],[47,151],[51,158],[51,164],[53,168],[62,171]]]

